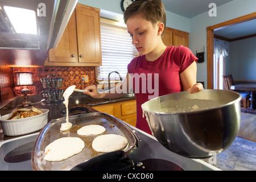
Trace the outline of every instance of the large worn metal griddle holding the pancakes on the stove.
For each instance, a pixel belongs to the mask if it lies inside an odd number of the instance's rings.
[[[69,116],[69,122],[72,123],[72,128],[67,131],[60,131],[61,123],[66,122],[66,118],[59,118],[49,122],[39,133],[32,150],[32,167],[37,171],[50,170],[70,170],[86,160],[92,159],[96,156],[105,154],[96,152],[92,148],[92,141],[99,135],[80,136],[77,134],[82,126],[86,125],[101,125],[105,127],[104,134],[121,135],[128,140],[128,144],[122,150],[126,153],[133,150],[137,145],[137,138],[130,127],[125,125],[120,119],[105,113],[86,113]],[[48,162],[43,159],[44,149],[46,146],[58,138],[63,137],[79,137],[85,143],[85,148],[71,158],[62,160],[60,162]]]

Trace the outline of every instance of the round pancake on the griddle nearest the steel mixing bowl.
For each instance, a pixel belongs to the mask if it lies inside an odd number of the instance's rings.
[[[127,139],[121,135],[107,134],[96,137],[92,147],[97,152],[113,152],[125,148],[127,143]]]

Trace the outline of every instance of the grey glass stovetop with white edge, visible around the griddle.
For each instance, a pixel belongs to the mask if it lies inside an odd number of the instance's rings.
[[[162,170],[218,170],[200,159],[185,158],[167,150],[154,137],[131,126],[139,135],[138,147],[127,155],[137,168]],[[0,142],[0,170],[33,170],[31,152],[39,133]],[[160,164],[160,165],[159,165]]]

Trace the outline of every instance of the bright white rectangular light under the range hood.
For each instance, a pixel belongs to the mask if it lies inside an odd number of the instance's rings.
[[[36,13],[33,10],[13,6],[3,6],[16,34],[37,35]]]

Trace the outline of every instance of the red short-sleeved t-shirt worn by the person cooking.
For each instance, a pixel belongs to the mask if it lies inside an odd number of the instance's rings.
[[[128,72],[133,76],[138,129],[151,134],[146,117],[142,117],[141,105],[152,98],[183,91],[179,74],[193,61],[197,61],[197,57],[189,48],[183,46],[167,47],[163,55],[155,61],[147,61],[145,55],[131,60]]]

